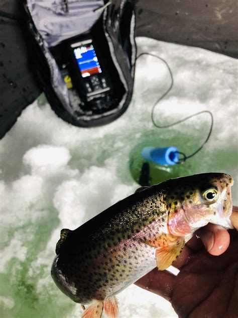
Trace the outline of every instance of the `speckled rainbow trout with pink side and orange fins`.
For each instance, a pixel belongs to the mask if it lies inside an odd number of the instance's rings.
[[[117,202],[75,230],[62,229],[51,275],[82,317],[116,317],[115,294],[164,270],[195,230],[208,222],[232,228],[231,176],[207,173],[171,179]]]

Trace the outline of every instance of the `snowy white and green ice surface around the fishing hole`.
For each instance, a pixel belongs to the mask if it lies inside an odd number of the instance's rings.
[[[146,38],[137,44],[139,52],[166,59],[174,75],[172,91],[156,108],[159,123],[205,109],[214,115],[208,143],[177,169],[230,173],[237,205],[237,61]],[[140,142],[175,145],[189,154],[206,138],[206,115],[169,129],[153,127],[151,107],[169,84],[164,63],[143,56],[137,62],[133,101],[116,121],[77,128],[41,100],[0,141],[1,317],[80,316],[80,305],[62,294],[50,276],[60,229],[78,227],[135,191],[129,156]],[[118,299],[121,318],[176,317],[168,301],[134,285]]]

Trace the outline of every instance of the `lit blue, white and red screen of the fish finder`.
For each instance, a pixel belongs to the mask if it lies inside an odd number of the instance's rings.
[[[73,52],[82,77],[101,73],[101,67],[92,43],[76,46],[73,48]]]

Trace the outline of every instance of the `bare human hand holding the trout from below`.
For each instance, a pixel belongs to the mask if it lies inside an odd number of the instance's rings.
[[[233,207],[231,222],[238,230],[238,207]],[[180,270],[177,276],[155,268],[135,284],[169,300],[180,318],[238,317],[236,230],[207,224],[187,242],[173,266]]]

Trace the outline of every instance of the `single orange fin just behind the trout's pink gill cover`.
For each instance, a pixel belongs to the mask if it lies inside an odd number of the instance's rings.
[[[163,271],[169,267],[182,252],[184,245],[184,239],[178,237],[174,244],[159,247],[155,252],[158,270]]]

